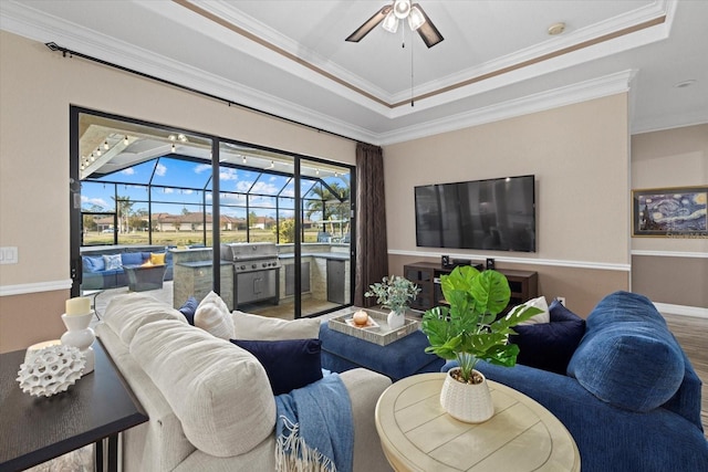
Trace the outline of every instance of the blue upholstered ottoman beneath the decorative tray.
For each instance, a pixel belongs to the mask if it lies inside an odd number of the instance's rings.
[[[330,329],[327,323],[323,322],[320,325],[320,339],[322,367],[334,373],[365,367],[396,381],[415,374],[439,373],[445,364],[435,354],[425,353],[428,338],[420,331],[379,346]]]

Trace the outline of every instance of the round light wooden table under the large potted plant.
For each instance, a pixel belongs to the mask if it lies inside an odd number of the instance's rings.
[[[494,416],[458,421],[440,407],[446,374],[406,377],[376,405],[376,429],[396,471],[580,471],[565,427],[533,399],[489,381]]]

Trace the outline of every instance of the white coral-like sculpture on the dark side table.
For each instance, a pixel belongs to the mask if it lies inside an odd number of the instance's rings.
[[[77,347],[49,346],[20,366],[17,380],[25,394],[51,397],[74,385],[85,365],[86,359]]]

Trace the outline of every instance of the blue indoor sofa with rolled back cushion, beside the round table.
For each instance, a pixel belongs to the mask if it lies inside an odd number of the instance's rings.
[[[555,415],[575,439],[583,472],[708,471],[701,381],[645,296],[602,300],[565,375],[520,364],[477,368]]]

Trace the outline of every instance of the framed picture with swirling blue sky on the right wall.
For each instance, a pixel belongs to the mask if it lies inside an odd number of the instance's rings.
[[[708,238],[708,186],[632,191],[635,237]]]

